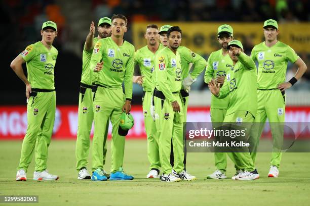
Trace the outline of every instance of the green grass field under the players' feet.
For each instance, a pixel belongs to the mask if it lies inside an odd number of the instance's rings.
[[[75,141],[52,140],[48,169],[59,180],[33,181],[31,163],[27,181],[17,182],[21,144],[21,141],[0,141],[0,195],[38,195],[39,203],[33,205],[309,205],[310,153],[284,153],[279,178],[266,178],[270,153],[258,153],[256,167],[260,178],[255,181],[230,180],[235,172],[230,160],[228,179],[207,180],[207,174],[214,171],[213,154],[188,153],[187,170],[198,179],[168,183],[145,178],[146,141],[128,140],[124,170],[135,179],[94,182],[77,179]],[[105,170],[109,168],[108,149]]]

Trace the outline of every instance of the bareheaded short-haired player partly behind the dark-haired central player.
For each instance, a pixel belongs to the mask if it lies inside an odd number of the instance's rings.
[[[144,37],[147,45],[138,49],[135,53],[135,65],[140,68],[143,77],[143,115],[144,126],[147,137],[147,157],[150,163],[149,173],[146,178],[159,178],[161,162],[159,157],[159,136],[156,130],[156,125],[151,117],[150,106],[152,104],[152,93],[154,86],[152,83],[152,72],[154,70],[154,58],[158,52],[164,48],[163,44],[159,43],[158,26],[151,24],[146,26]]]

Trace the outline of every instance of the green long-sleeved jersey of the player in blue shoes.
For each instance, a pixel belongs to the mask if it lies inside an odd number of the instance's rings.
[[[118,46],[111,37],[97,41],[90,69],[103,62],[103,68],[93,74],[93,82],[107,88],[121,88],[124,81],[126,99],[132,98],[135,47],[128,41]]]

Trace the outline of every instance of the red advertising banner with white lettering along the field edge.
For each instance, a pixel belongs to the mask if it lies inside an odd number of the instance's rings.
[[[146,138],[142,106],[132,106],[135,125],[126,138]],[[310,107],[286,107],[286,122],[310,122]],[[187,122],[210,122],[210,107],[189,107]],[[22,139],[27,129],[26,106],[0,106],[0,140]],[[75,139],[78,129],[78,106],[56,109],[54,139]],[[111,125],[109,135],[111,135]],[[301,130],[301,128],[300,128]],[[265,131],[268,133],[268,131]],[[93,135],[93,129],[91,132]],[[310,134],[308,135],[310,136]]]

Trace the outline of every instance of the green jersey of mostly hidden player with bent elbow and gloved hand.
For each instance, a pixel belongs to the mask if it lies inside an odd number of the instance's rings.
[[[185,79],[189,74],[189,63],[195,65],[192,72],[190,73],[190,77],[192,79],[196,79],[198,75],[206,68],[206,60],[200,55],[193,53],[189,48],[185,46],[179,46],[178,53],[181,57],[182,80]]]

